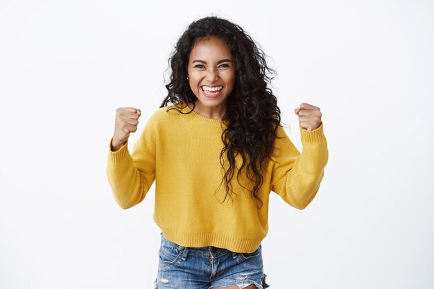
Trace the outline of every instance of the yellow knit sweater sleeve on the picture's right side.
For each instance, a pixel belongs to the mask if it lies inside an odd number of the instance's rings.
[[[272,166],[271,190],[297,209],[306,208],[320,189],[324,168],[329,159],[323,123],[308,131],[299,124],[303,150],[300,153],[279,126],[275,162]]]

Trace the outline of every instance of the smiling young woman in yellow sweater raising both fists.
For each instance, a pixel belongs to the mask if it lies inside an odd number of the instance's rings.
[[[155,180],[155,288],[266,288],[269,194],[304,209],[318,192],[328,160],[320,108],[295,109],[300,153],[280,125],[263,51],[225,19],[190,24],[170,64],[168,95],[131,154],[141,112],[116,110],[107,164],[114,199],[123,209],[139,204]]]

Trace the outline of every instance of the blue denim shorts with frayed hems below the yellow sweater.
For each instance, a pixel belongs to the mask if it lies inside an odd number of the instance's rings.
[[[268,287],[261,245],[253,253],[235,253],[218,247],[182,247],[161,236],[156,289]]]

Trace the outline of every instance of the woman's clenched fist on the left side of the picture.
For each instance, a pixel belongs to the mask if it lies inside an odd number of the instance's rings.
[[[131,132],[136,132],[141,112],[134,107],[116,108],[116,120],[114,121],[114,134],[112,139],[112,151],[119,150],[130,137]]]

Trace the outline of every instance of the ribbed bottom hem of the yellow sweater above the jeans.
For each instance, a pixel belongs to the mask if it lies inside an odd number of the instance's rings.
[[[184,247],[214,246],[225,248],[236,253],[254,252],[259,245],[261,245],[261,240],[263,239],[234,238],[233,236],[227,236],[216,232],[194,233],[179,231],[173,228],[162,228],[162,231],[167,240],[170,240],[177,245]]]

